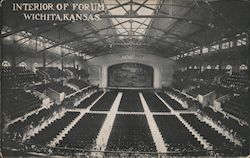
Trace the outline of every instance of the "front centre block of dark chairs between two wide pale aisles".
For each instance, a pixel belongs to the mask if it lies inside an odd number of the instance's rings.
[[[155,152],[145,115],[116,115],[106,150]]]

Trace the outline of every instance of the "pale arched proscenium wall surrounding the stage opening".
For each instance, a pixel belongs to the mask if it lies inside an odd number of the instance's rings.
[[[95,57],[86,62],[89,73],[89,81],[102,88],[107,87],[108,67],[119,63],[141,63],[149,65],[154,69],[154,88],[161,88],[162,85],[170,85],[175,62],[167,58],[142,52],[120,52]],[[83,64],[82,64],[83,65]],[[84,66],[86,66],[84,65]]]

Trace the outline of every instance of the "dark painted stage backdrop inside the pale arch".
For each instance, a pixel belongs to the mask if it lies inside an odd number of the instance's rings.
[[[153,68],[138,63],[121,63],[108,67],[109,87],[153,87]]]

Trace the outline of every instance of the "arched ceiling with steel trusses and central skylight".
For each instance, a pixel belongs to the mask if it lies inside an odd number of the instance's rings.
[[[1,36],[27,31],[32,34],[30,39],[42,36],[54,41],[37,53],[66,44],[91,56],[113,49],[150,49],[156,55],[171,57],[250,28],[247,0],[85,0],[104,3],[105,10],[95,12],[102,20],[76,22],[25,21],[20,13],[11,10],[13,2],[20,0],[4,2],[3,26],[11,30]]]

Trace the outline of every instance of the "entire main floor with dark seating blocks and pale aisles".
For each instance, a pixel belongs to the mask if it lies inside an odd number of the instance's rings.
[[[99,91],[66,109],[25,142],[59,153],[88,151],[93,157],[124,152],[205,156],[242,146],[206,121],[162,92]],[[221,148],[217,140],[223,143]]]

